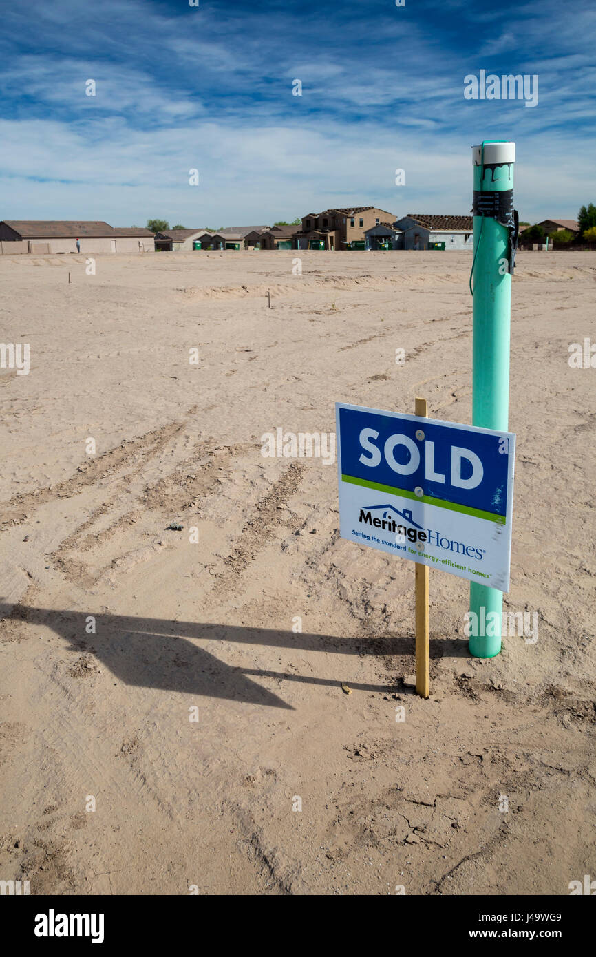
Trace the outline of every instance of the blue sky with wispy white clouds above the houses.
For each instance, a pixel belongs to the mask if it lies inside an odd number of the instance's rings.
[[[0,219],[465,213],[482,139],[518,145],[521,218],[575,218],[596,201],[595,35],[591,0],[5,4]],[[481,69],[538,75],[538,104],[465,100]]]

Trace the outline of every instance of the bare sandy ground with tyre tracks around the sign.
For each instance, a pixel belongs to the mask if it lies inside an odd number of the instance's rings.
[[[567,361],[596,256],[521,253],[514,283],[505,607],[538,640],[469,657],[468,585],[431,571],[429,701],[413,565],[339,539],[335,465],[260,436],[415,394],[470,422],[470,256],[294,256],[0,257],[1,339],[31,344],[0,369],[0,878],[568,894],[596,876],[596,370]]]

